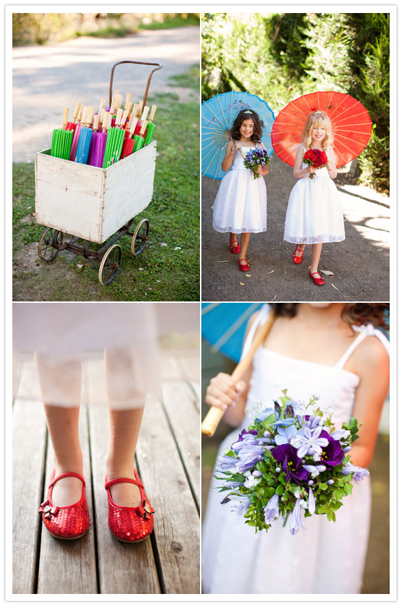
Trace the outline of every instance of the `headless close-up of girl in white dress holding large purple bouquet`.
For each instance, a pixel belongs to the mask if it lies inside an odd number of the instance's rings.
[[[287,390],[305,402],[319,395],[318,406],[333,410],[338,429],[353,414],[362,425],[351,462],[368,467],[389,385],[388,340],[373,325],[386,324],[388,304],[273,306],[275,321],[242,380],[234,385],[230,375],[219,373],[207,388],[207,404],[225,410],[225,421],[237,427],[218,456],[251,423],[247,408],[257,402],[273,406]],[[243,351],[269,310],[265,304],[251,317]],[[336,523],[314,515],[303,519],[307,530],[295,536],[283,519],[254,534],[243,517],[221,506],[221,499],[213,488],[203,525],[205,593],[360,593],[370,526],[369,477],[354,484]]]

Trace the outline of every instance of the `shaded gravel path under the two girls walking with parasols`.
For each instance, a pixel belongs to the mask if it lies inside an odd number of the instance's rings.
[[[388,197],[338,175],[335,183],[344,209],[346,239],[323,245],[319,269],[334,275],[325,276],[324,286],[316,286],[308,275],[311,247],[307,246],[303,262],[296,266],[292,262],[294,246],[283,240],[294,185],[292,168],[274,156],[264,179],[268,230],[251,234],[250,271],[243,273],[238,270],[238,256],[229,252],[229,234],[218,234],[212,228],[212,207],[220,182],[202,178],[203,301],[389,301]]]

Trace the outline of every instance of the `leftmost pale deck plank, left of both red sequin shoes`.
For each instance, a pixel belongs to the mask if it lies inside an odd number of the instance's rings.
[[[36,586],[46,432],[42,403],[16,399],[12,434],[12,591],[16,594],[32,594]]]

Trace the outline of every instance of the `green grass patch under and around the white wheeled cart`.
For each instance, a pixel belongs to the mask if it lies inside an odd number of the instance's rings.
[[[149,219],[149,241],[134,258],[131,237],[118,240],[121,269],[108,286],[98,282],[97,262],[60,252],[47,264],[36,256],[35,243],[45,228],[32,216],[34,164],[13,165],[15,301],[199,301],[199,103],[177,100],[177,95],[175,103],[171,95],[149,97],[150,105],[158,104],[159,156],[153,199],[135,222]]]

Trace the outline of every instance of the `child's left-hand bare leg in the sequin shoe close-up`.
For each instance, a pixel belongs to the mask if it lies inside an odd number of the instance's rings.
[[[78,432],[81,360],[54,363],[40,354],[36,354],[35,359],[53,445],[55,475],[62,472],[77,472],[82,475]],[[55,506],[69,506],[81,498],[81,493],[82,483],[78,478],[62,478],[53,486],[52,501]]]

